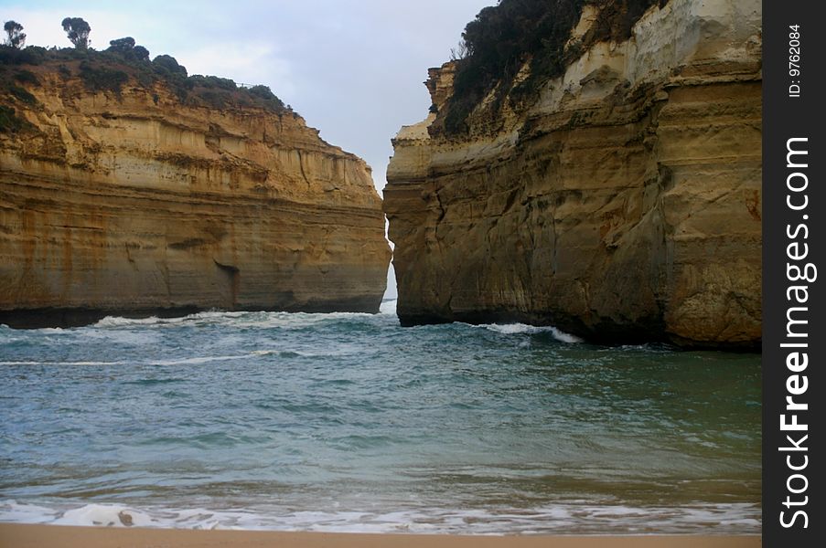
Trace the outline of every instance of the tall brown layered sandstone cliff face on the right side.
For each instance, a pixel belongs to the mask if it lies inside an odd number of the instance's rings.
[[[586,8],[569,44],[595,20]],[[522,111],[393,141],[402,323],[527,321],[595,341],[756,348],[761,5],[671,0]],[[434,104],[454,67],[431,71]]]

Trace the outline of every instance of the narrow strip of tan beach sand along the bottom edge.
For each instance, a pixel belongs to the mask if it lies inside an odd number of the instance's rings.
[[[0,548],[757,548],[758,535],[468,536],[356,532],[203,531],[0,523]]]

